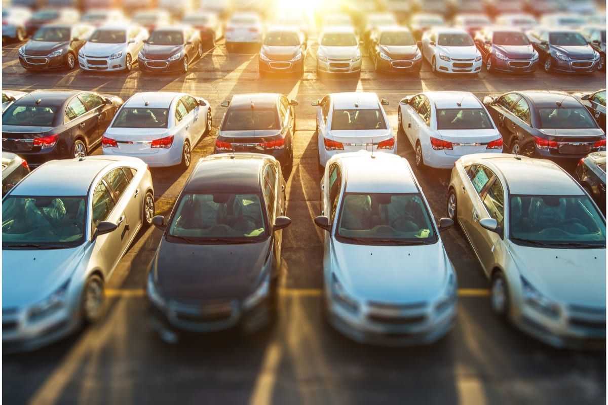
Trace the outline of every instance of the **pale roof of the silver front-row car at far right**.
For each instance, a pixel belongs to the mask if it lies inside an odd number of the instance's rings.
[[[510,194],[524,196],[580,196],[581,186],[556,163],[510,154],[469,155],[490,169],[498,169]]]

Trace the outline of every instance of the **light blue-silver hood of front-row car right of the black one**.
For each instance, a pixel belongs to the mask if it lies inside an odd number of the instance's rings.
[[[452,271],[441,242],[412,247],[332,243],[336,277],[358,299],[431,301],[443,293]]]

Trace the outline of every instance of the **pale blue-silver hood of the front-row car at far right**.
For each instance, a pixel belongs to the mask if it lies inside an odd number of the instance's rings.
[[[546,249],[511,243],[520,274],[562,304],[606,306],[606,249]]]

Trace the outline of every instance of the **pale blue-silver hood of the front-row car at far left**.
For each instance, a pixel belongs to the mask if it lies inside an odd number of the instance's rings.
[[[85,247],[2,249],[2,308],[27,307],[47,298],[74,272]]]

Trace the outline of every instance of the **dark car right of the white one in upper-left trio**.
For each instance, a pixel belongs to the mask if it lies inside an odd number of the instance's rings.
[[[202,56],[201,36],[192,27],[159,28],[150,34],[137,60],[142,72],[188,72]]]

